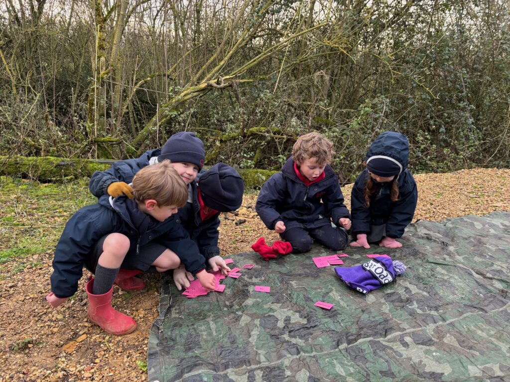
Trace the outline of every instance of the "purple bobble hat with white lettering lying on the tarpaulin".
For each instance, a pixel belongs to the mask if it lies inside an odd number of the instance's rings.
[[[335,271],[347,286],[368,293],[394,281],[396,275],[405,271],[405,265],[400,261],[392,261],[390,257],[377,256],[363,265],[336,267]]]

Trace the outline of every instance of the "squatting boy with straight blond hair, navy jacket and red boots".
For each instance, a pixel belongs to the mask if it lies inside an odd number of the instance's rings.
[[[46,296],[52,307],[62,304],[77,291],[85,265],[95,275],[86,285],[87,316],[114,335],[136,329],[135,320],[111,306],[121,267],[163,272],[182,262],[203,287],[215,288],[214,276],[205,270],[205,258],[175,219],[177,208],[188,200],[188,189],[170,161],[141,169],[133,178],[132,190],[133,199],[105,195],[71,217],[55,249],[52,292]],[[140,288],[132,290],[136,289]]]

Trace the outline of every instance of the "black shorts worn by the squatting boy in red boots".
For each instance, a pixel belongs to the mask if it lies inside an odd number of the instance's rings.
[[[103,243],[107,236],[108,235],[105,235],[97,241],[94,249],[85,259],[85,267],[92,273],[95,273],[99,256],[103,253]],[[138,254],[136,250],[127,252],[120,267],[122,269],[138,269],[142,272],[155,273],[157,272],[156,267],[151,264],[154,263],[166,249],[167,248],[163,244],[157,241],[149,241],[147,244],[140,247]]]

